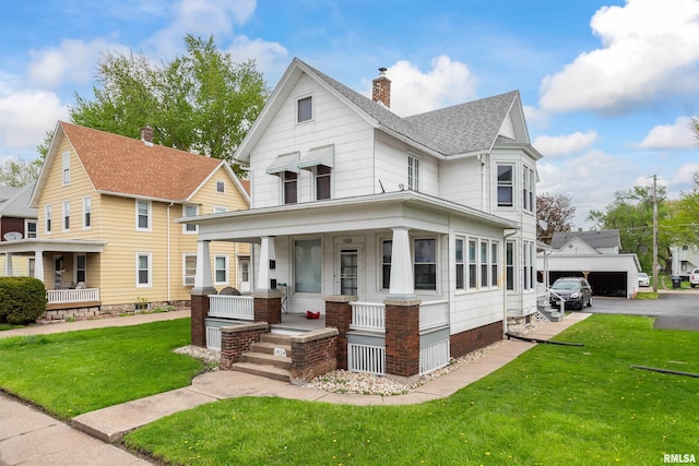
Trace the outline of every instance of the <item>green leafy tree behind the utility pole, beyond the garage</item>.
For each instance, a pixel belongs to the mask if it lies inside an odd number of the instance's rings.
[[[657,187],[657,262],[668,270],[674,235],[664,228],[672,208],[665,199],[665,187]],[[637,186],[617,191],[605,211],[591,211],[588,219],[596,229],[618,229],[623,252],[636,253],[644,271],[653,266],[653,188]]]

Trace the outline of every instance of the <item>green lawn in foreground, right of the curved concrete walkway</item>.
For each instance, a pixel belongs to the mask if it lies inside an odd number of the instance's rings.
[[[203,405],[128,434],[171,464],[657,465],[699,457],[698,332],[593,315],[454,395],[422,405],[281,398]],[[467,369],[466,369],[467,370]]]

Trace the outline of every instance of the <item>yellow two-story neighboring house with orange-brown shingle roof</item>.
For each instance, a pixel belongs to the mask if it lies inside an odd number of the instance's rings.
[[[152,134],[145,127],[135,140],[58,122],[29,201],[37,238],[0,244],[5,260],[35,258],[49,311],[188,307],[198,230],[176,219],[249,208],[247,189],[226,162],[154,145]],[[250,290],[249,250],[212,246],[218,289]]]

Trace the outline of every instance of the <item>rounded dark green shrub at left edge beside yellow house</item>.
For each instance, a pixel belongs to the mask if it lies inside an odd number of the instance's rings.
[[[0,322],[34,322],[46,311],[46,287],[40,279],[0,277]]]

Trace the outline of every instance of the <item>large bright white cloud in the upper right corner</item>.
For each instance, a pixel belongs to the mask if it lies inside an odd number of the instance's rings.
[[[699,91],[699,1],[627,0],[604,7],[590,25],[603,48],[544,77],[549,111],[624,112],[668,95]]]

